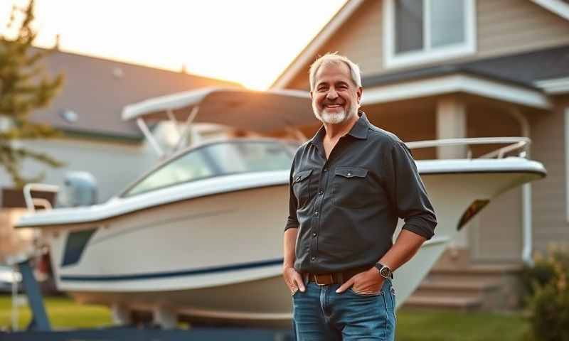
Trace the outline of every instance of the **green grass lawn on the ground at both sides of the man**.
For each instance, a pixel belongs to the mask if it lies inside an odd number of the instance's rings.
[[[110,310],[101,305],[79,305],[70,298],[46,298],[53,328],[89,328],[110,325]],[[20,328],[30,320],[22,307]],[[0,296],[0,328],[11,325],[11,298]],[[459,313],[444,310],[399,310],[397,341],[522,341],[528,322],[520,313]]]

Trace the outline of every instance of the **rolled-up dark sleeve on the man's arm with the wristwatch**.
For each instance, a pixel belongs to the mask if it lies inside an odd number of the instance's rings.
[[[384,155],[385,184],[398,217],[405,220],[403,229],[431,239],[437,217],[409,148],[395,141]]]

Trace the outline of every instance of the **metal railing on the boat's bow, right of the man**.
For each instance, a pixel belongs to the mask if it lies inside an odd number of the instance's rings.
[[[525,158],[527,156],[528,147],[531,140],[527,137],[472,137],[464,139],[438,139],[426,141],[407,142],[406,145],[410,149],[447,147],[447,146],[474,146],[489,144],[507,144],[494,151],[486,153],[477,158],[504,158],[505,156],[518,151],[518,156]],[[472,158],[472,151],[468,150],[467,158]]]

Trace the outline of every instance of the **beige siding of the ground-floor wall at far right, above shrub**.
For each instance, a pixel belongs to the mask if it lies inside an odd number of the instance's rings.
[[[551,113],[531,117],[531,157],[541,161],[548,175],[532,185],[534,249],[545,251],[548,243],[569,241],[565,199],[565,122],[569,99]]]

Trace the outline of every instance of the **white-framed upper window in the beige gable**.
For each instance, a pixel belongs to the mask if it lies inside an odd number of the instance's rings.
[[[476,52],[474,0],[385,0],[385,67]]]

